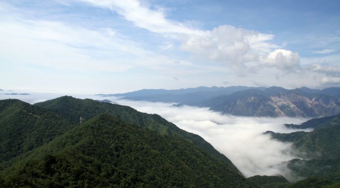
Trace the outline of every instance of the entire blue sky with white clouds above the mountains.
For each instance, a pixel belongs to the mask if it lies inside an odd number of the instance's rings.
[[[340,1],[0,2],[0,88],[340,86]]]

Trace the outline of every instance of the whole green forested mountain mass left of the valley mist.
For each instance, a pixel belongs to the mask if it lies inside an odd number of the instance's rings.
[[[1,153],[12,151],[0,158],[2,187],[256,187],[200,136],[130,107],[2,100],[0,117]]]

